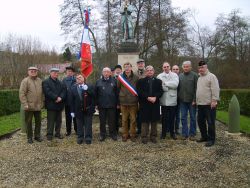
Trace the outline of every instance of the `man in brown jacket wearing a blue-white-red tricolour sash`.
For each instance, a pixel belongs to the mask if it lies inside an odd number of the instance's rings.
[[[138,111],[138,98],[135,90],[138,77],[132,71],[131,63],[123,65],[124,72],[118,76],[117,88],[119,91],[119,102],[122,112],[122,141],[128,139],[128,120],[130,121],[130,137],[135,142],[136,115]]]

